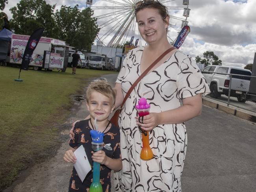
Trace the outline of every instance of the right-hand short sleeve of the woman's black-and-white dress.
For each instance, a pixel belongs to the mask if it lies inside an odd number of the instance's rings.
[[[177,57],[179,56],[181,57],[178,62],[180,71],[176,81],[179,97],[184,99],[200,93],[202,96],[210,93],[206,80],[195,61],[181,52],[178,53]]]

